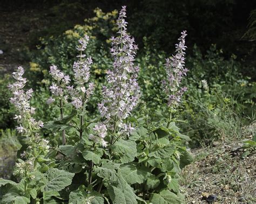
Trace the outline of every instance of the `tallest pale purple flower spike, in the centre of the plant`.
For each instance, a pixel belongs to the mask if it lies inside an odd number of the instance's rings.
[[[114,130],[116,124],[124,128],[123,120],[130,115],[139,99],[139,86],[137,82],[139,68],[134,66],[134,57],[138,46],[134,38],[126,32],[126,7],[119,13],[117,26],[119,37],[112,37],[111,55],[114,58],[113,69],[107,71],[109,87],[103,87],[103,101],[98,104],[102,117],[108,129]]]

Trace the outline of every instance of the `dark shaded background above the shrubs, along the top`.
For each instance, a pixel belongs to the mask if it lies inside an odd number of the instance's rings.
[[[39,37],[58,36],[85,18],[93,16],[96,7],[104,12],[120,10],[127,5],[129,31],[143,47],[143,37],[157,50],[173,51],[181,30],[186,29],[188,53],[193,44],[205,52],[211,44],[222,48],[224,56],[233,53],[246,64],[255,64],[255,40],[242,38],[247,31],[253,0],[130,0],[130,1],[50,1],[1,0],[0,66],[29,61],[22,49],[36,49]],[[255,69],[254,69],[255,71]],[[253,75],[250,70],[245,74]]]

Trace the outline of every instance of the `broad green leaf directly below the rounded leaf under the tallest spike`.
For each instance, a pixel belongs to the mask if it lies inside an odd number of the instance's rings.
[[[151,175],[149,168],[137,168],[133,164],[125,164],[120,166],[120,173],[122,174],[124,180],[132,184],[142,184],[147,177]]]

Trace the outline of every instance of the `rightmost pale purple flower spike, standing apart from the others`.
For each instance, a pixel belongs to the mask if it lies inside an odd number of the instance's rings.
[[[186,31],[181,32],[181,37],[178,38],[179,44],[176,44],[176,55],[166,59],[165,70],[167,80],[163,81],[164,91],[168,97],[168,105],[170,107],[177,106],[181,100],[181,96],[187,90],[186,87],[180,88],[181,80],[186,75],[188,69],[185,64],[185,37]]]

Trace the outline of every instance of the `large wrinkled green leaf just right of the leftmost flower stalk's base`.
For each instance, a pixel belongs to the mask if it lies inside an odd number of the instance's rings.
[[[50,170],[45,173],[45,177],[47,178],[45,191],[61,191],[71,184],[74,175],[75,173],[50,168]]]

